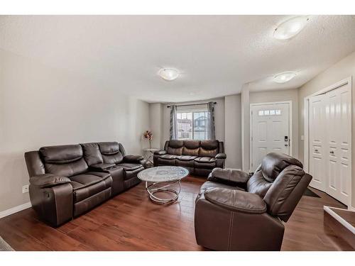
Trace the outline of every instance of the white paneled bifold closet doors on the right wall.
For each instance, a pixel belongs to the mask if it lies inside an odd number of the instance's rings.
[[[310,185],[349,205],[351,198],[351,87],[310,98]]]

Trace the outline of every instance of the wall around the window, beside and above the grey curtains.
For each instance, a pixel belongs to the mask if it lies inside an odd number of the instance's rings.
[[[216,128],[216,139],[224,141],[224,98],[210,99],[208,101],[216,101],[214,105],[214,126]],[[180,104],[198,104],[205,103],[207,101],[189,101]],[[170,138],[170,108],[167,108],[170,104],[163,105],[163,145],[165,140]],[[163,148],[162,145],[162,148]]]

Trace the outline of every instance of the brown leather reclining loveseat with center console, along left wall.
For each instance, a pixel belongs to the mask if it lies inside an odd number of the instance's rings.
[[[42,147],[25,160],[33,209],[55,227],[138,184],[145,165],[116,142]]]

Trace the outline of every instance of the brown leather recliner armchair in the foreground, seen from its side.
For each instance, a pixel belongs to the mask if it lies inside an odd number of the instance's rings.
[[[195,202],[195,235],[212,250],[280,250],[284,225],[312,177],[280,153],[263,158],[253,176],[216,168]]]

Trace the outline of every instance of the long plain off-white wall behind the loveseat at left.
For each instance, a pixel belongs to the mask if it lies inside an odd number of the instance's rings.
[[[148,126],[146,102],[0,50],[0,211],[29,201],[26,151],[116,140],[141,154]]]

